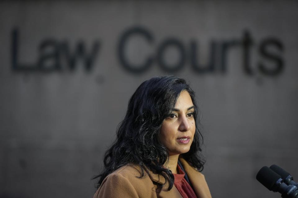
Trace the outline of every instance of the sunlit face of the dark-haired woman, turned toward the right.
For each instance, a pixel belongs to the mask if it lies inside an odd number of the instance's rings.
[[[164,119],[160,127],[160,141],[169,151],[169,155],[187,153],[196,131],[193,118],[192,98],[187,91],[182,91],[175,108]]]

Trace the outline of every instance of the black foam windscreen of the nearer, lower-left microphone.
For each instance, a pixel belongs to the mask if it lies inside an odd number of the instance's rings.
[[[268,168],[268,166],[263,166],[256,176],[256,179],[270,191],[272,191],[274,184],[280,178],[280,175]]]

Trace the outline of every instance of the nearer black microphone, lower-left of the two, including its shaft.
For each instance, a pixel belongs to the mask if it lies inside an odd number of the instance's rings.
[[[281,193],[282,198],[298,198],[298,188],[294,185],[285,184],[281,176],[267,166],[263,166],[259,170],[256,179],[269,191]]]

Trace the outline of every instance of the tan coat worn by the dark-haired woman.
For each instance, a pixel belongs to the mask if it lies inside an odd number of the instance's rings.
[[[179,160],[187,173],[188,179],[192,183],[196,196],[198,198],[211,198],[204,175],[196,171],[192,166],[189,166],[187,161],[183,158]],[[167,191],[169,182],[167,182],[161,190],[160,188],[157,189],[157,185],[152,181],[162,184],[165,182],[163,176],[153,174],[152,172],[150,175],[146,175],[143,178],[137,178],[139,176],[140,168],[138,166],[123,166],[109,174],[103,180],[93,198],[182,197],[174,185],[170,191]]]

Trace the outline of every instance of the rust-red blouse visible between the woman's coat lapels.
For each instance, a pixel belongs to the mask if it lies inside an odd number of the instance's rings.
[[[192,187],[184,179],[183,170],[180,168],[179,165],[177,165],[177,167],[178,167],[177,174],[173,174],[175,187],[180,192],[183,198],[197,198],[196,193],[192,190]]]

